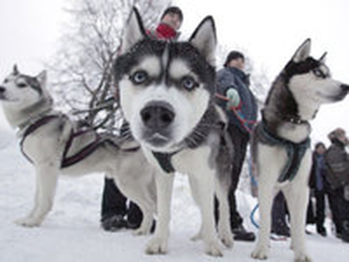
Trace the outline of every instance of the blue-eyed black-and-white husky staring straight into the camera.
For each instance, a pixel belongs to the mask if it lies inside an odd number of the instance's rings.
[[[229,169],[222,153],[219,115],[214,106],[216,34],[213,18],[206,17],[188,42],[149,38],[133,10],[126,27],[124,52],[115,62],[120,104],[131,132],[156,174],[158,220],[148,254],[166,253],[174,171],[188,174],[202,224],[195,238],[203,239],[209,255],[222,255],[214,221],[214,194],[220,200],[218,234],[232,245],[227,187],[217,161]],[[217,154],[220,156],[217,157]],[[222,168],[222,165],[218,165]],[[224,164],[223,164],[224,166]]]

